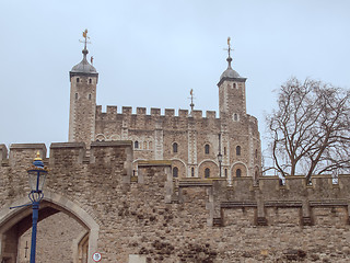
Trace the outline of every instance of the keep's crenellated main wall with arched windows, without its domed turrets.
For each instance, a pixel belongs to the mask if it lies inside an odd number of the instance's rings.
[[[211,176],[219,176],[219,133],[222,136],[221,153],[223,156],[222,174],[235,176],[236,170],[242,170],[243,176],[255,176],[260,173],[261,149],[258,122],[250,115],[241,115],[233,122],[217,118],[215,112],[208,111],[202,116],[201,111],[165,108],[161,115],[160,108],[151,108],[147,114],[144,107],[137,107],[132,114],[131,107],[117,106],[96,107],[96,139],[138,141],[135,160],[174,160],[180,178],[205,178],[205,170],[210,169]],[[173,144],[178,145],[178,151],[173,152]],[[209,153],[205,152],[205,145],[210,146]],[[241,155],[236,155],[236,147],[241,147]],[[135,168],[137,169],[137,167]]]

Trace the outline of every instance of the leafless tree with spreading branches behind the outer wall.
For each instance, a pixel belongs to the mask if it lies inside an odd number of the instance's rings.
[[[275,169],[284,178],[350,171],[350,91],[288,80],[267,116]]]

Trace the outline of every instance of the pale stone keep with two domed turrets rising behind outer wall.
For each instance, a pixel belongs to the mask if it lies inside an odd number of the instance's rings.
[[[131,140],[133,174],[144,160],[171,160],[174,178],[252,176],[261,171],[257,118],[246,112],[246,78],[232,68],[229,43],[228,68],[220,76],[219,117],[214,111],[96,105],[97,70],[83,59],[70,71],[69,141]]]

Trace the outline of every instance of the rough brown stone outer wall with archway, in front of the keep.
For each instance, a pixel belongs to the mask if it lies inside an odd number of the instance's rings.
[[[12,145],[9,152],[0,145],[1,256],[15,242],[9,229],[30,214],[9,207],[27,198],[26,169],[37,150],[46,156],[45,145]],[[44,202],[90,231],[89,262],[96,250],[110,263],[350,261],[350,175],[337,184],[330,176],[315,176],[312,185],[293,176],[285,185],[277,178],[230,185],[174,181],[171,162],[150,161],[133,178],[130,141],[92,142],[90,155],[83,144],[51,144],[44,162]]]

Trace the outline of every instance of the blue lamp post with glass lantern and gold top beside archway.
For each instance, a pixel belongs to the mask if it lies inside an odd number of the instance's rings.
[[[28,197],[33,207],[33,228],[32,228],[32,244],[31,244],[31,263],[35,263],[36,253],[36,227],[39,215],[39,204],[44,197],[43,187],[47,175],[47,168],[44,167],[43,159],[39,152],[33,161],[33,165],[27,170],[31,185]]]

